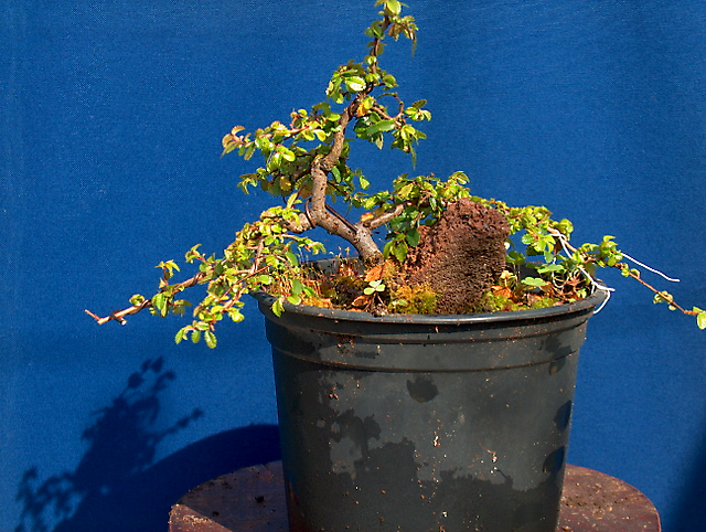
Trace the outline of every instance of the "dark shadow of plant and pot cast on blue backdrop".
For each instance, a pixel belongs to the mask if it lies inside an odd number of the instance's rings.
[[[274,425],[227,430],[154,464],[159,444],[204,417],[194,408],[168,428],[156,428],[160,394],[176,379],[164,359],[146,360],[125,390],[95,412],[82,439],[88,444],[73,471],[42,480],[28,469],[17,499],[15,532],[140,532],[167,530],[169,510],[189,489],[229,470],[279,458]]]

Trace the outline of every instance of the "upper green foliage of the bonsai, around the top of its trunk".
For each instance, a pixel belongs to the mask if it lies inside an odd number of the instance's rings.
[[[289,125],[278,120],[269,126],[244,134],[243,126],[234,127],[222,140],[223,155],[237,152],[245,160],[259,155],[264,166],[253,173],[240,175],[238,185],[244,192],[259,187],[275,196],[296,194],[306,200],[312,193],[312,164],[331,153],[336,134],[342,132],[342,117],[346,110],[354,116],[355,138],[378,148],[389,137],[391,147],[416,157],[414,146],[426,135],[410,123],[431,119],[425,109],[426,100],[406,106],[394,89],[397,79],[379,67],[384,39],[404,35],[416,42],[417,25],[411,17],[402,17],[402,3],[378,0],[381,19],[366,30],[372,38],[368,54],[362,62],[350,61],[339,66],[329,81],[327,99],[311,109],[298,109],[290,115]],[[354,106],[350,104],[355,102]],[[347,166],[350,142],[342,140],[341,157],[331,169],[325,193],[331,200],[342,196],[352,201],[370,184],[360,170]]]

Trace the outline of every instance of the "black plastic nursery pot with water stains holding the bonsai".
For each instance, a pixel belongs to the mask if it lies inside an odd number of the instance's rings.
[[[291,532],[554,532],[578,351],[605,298],[374,317],[256,296]]]

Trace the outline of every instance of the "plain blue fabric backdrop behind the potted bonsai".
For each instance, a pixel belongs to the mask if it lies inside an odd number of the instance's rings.
[[[215,351],[175,347],[174,319],[98,328],[83,309],[119,308],[157,263],[259,214],[234,180],[254,167],[220,159],[221,137],[322,99],[373,3],[0,2],[0,531],[167,530],[189,488],[278,457],[252,305]],[[616,235],[706,306],[704,3],[410,3],[417,53],[383,58],[434,115],[416,171],[545,204],[579,243]],[[374,148],[359,163],[377,183],[413,171]],[[667,532],[705,530],[706,332],[606,277],[569,460],[640,488]]]

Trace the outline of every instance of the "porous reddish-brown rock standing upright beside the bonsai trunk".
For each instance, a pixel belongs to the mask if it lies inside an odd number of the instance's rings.
[[[449,205],[420,233],[419,245],[409,249],[405,280],[439,294],[437,313],[466,312],[505,268],[510,226],[498,211],[472,200]]]

